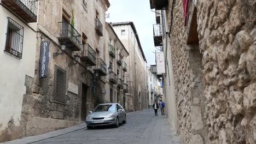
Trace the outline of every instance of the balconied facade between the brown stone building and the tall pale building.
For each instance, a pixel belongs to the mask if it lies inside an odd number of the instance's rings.
[[[111,23],[106,23],[106,63],[108,71],[106,77],[105,103],[119,103],[127,110],[126,93],[127,85],[127,61],[129,52],[126,50]]]

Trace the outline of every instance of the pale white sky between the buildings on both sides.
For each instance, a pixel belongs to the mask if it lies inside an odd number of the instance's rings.
[[[153,24],[155,13],[150,10],[149,0],[109,0],[107,22],[133,21],[148,65],[155,64]]]

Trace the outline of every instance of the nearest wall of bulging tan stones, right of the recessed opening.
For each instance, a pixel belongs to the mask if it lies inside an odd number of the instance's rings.
[[[256,143],[256,2],[197,3],[212,143]]]

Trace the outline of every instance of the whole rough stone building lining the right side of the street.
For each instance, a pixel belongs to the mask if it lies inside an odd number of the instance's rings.
[[[150,4],[166,20],[166,105],[184,143],[256,143],[255,1]]]

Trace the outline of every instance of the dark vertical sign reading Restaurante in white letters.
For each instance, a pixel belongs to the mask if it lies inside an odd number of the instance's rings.
[[[41,42],[40,51],[40,79],[47,77],[48,72],[48,62],[49,62],[49,45],[50,41]]]

